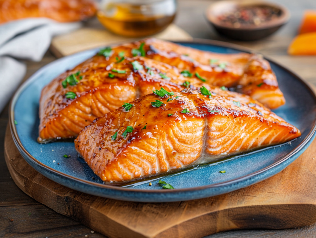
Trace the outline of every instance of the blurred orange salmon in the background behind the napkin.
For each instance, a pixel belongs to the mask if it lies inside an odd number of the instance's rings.
[[[95,12],[96,6],[90,0],[0,0],[0,24],[27,17],[81,21]]]

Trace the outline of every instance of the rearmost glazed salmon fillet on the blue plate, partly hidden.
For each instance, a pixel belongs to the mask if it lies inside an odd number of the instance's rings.
[[[197,73],[212,86],[234,87],[270,109],[285,103],[269,62],[260,55],[219,54],[149,38],[113,47],[112,57],[117,57],[119,52],[131,57],[133,49],[142,49],[143,56],[175,66],[180,71]]]

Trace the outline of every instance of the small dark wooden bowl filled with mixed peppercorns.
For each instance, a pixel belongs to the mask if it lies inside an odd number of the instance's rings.
[[[235,40],[269,36],[282,27],[289,16],[285,7],[263,1],[220,1],[206,10],[206,18],[216,31]]]

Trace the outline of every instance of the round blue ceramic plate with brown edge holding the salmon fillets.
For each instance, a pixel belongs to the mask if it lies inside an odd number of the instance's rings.
[[[217,41],[180,43],[218,53],[246,52],[240,47]],[[101,197],[138,202],[171,202],[210,197],[252,185],[279,173],[306,150],[314,137],[315,95],[298,76],[270,61],[286,99],[286,104],[274,112],[299,128],[301,137],[291,143],[165,176],[138,180],[124,186],[104,185],[84,160],[77,157],[73,142],[39,144],[36,141],[41,89],[53,78],[90,58],[97,51],[80,52],[46,65],[19,88],[10,106],[11,131],[21,155],[41,174],[69,188]],[[71,157],[64,158],[64,154]],[[221,174],[220,170],[226,170],[226,173]],[[170,183],[175,189],[162,189],[158,184],[159,179]],[[152,186],[149,186],[149,182]]]

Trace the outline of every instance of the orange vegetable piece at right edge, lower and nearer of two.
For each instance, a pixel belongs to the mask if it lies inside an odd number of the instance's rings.
[[[316,32],[298,35],[291,42],[290,55],[316,55]]]

